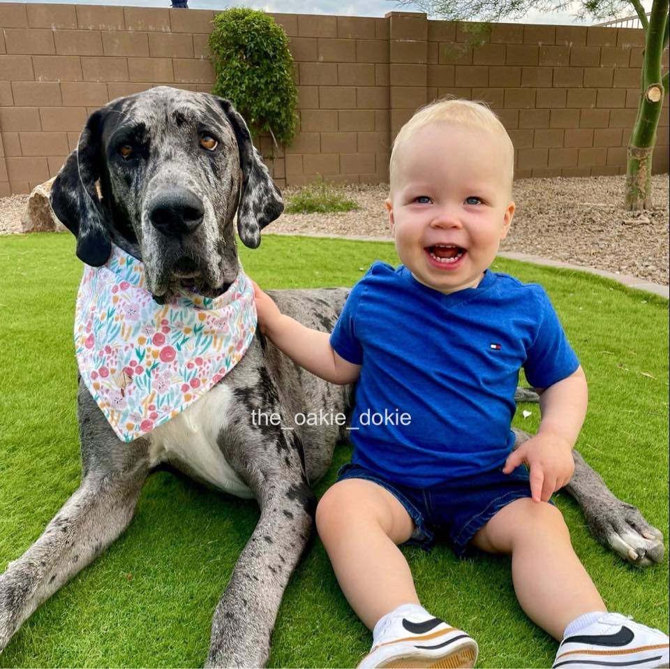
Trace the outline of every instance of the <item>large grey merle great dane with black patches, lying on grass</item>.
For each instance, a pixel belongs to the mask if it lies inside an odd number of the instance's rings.
[[[89,117],[54,182],[52,207],[76,235],[84,263],[103,265],[116,244],[143,261],[149,291],[163,303],[183,283],[195,284],[202,295],[226,291],[238,272],[236,216],[241,241],[255,248],[283,203],[228,101],[156,87]],[[285,313],[330,330],[347,291],[272,295]],[[81,485],[0,576],[0,649],[119,537],[144,480],[159,464],[170,464],[260,506],[258,526],[214,611],[207,666],[265,666],[283,591],[311,533],[311,484],[345,437],[342,426],[297,425],[295,416],[348,413],[351,403],[352,388],[301,371],[260,334],[207,395],[131,443],[114,434],[80,381]],[[254,410],[276,413],[281,423],[255,425]],[[518,434],[519,440],[527,436]],[[567,490],[595,538],[627,561],[660,561],[660,532],[574,457]]]

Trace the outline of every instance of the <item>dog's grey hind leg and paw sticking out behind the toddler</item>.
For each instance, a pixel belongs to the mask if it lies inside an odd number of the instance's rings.
[[[514,429],[516,446],[530,438],[530,434]],[[611,548],[627,562],[648,566],[662,561],[663,534],[650,525],[632,504],[621,501],[605,485],[600,474],[572,451],[574,474],[565,491],[581,507],[591,534]]]

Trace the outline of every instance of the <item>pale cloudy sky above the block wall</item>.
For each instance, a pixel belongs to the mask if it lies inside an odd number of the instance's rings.
[[[0,0],[7,1],[7,0]],[[23,0],[28,2],[58,2],[76,4],[75,0]],[[123,5],[126,7],[170,7],[170,0],[89,0],[85,4]],[[593,20],[578,21],[575,19],[578,3],[574,9],[551,14],[530,11],[521,20],[523,23],[542,23],[555,25],[590,25]],[[251,7],[268,12],[296,14],[335,14],[340,16],[378,16],[382,17],[391,11],[416,11],[411,6],[399,7],[394,0],[188,0],[191,9],[226,9],[228,7]],[[651,7],[651,0],[643,1],[646,10]],[[634,14],[631,7],[630,14]]]

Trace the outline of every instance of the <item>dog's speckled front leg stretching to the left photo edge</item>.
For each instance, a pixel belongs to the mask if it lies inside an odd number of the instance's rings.
[[[82,409],[93,413],[84,416]],[[0,575],[0,651],[22,622],[103,552],[133,517],[149,471],[146,444],[119,441],[82,392],[80,425],[80,487],[42,536]]]

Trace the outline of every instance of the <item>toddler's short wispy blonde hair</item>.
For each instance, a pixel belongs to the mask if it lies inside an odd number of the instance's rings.
[[[431,123],[450,123],[460,126],[471,126],[480,128],[502,138],[507,149],[507,165],[500,166],[501,169],[509,172],[509,192],[512,193],[512,179],[514,178],[514,145],[509,138],[505,126],[500,123],[500,119],[489,109],[489,107],[479,101],[460,100],[457,98],[441,98],[435,100],[429,105],[420,108],[412,118],[400,128],[400,132],[393,142],[391,151],[391,161],[389,172],[391,181],[393,181],[393,172],[395,159],[397,158],[398,147],[406,142],[412,133],[419,128],[423,128]]]

